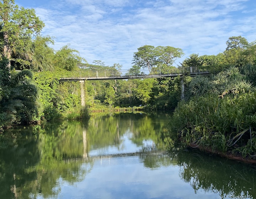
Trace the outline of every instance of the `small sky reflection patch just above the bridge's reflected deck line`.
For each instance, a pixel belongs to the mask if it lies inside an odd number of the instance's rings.
[[[133,134],[127,131],[123,136],[120,136],[120,145],[119,147],[116,146],[107,146],[102,147],[100,149],[92,149],[89,152],[90,156],[100,156],[100,155],[107,155],[107,154],[122,154],[122,153],[134,153],[138,152],[142,149],[142,147],[138,147],[135,144],[132,143],[130,140],[132,138]],[[144,141],[143,145],[152,145],[152,141]]]

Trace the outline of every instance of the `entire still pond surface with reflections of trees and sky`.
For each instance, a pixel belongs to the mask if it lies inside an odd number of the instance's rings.
[[[0,199],[256,199],[256,167],[168,148],[168,115],[112,114],[0,136]]]

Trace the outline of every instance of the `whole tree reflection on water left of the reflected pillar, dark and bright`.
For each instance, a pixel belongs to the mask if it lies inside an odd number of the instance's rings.
[[[0,146],[5,147],[0,150],[0,198],[47,198],[58,194],[61,182],[84,179],[93,160],[82,158],[87,153],[83,128],[73,122],[10,132],[10,138],[6,134]]]

